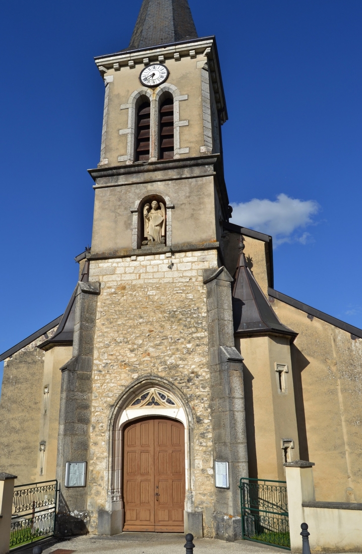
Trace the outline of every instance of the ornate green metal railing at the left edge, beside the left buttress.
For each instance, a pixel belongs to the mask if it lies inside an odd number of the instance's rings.
[[[54,535],[57,489],[56,480],[14,487],[10,548]]]

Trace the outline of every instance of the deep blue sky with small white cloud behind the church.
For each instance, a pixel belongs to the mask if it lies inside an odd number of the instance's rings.
[[[128,45],[140,4],[2,3],[0,352],[74,289],[101,142],[93,56]],[[277,290],[362,327],[362,2],[190,6],[198,34],[217,37],[232,221],[274,235]]]

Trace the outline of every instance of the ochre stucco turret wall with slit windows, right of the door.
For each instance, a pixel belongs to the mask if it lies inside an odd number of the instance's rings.
[[[293,439],[291,456],[299,458],[289,341],[272,336],[245,337],[237,338],[235,344],[244,357],[249,476],[284,480],[281,439]],[[275,363],[288,366],[285,393],[278,392]]]

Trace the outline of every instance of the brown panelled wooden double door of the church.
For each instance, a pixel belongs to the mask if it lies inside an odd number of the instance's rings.
[[[185,428],[153,417],[123,431],[124,531],[183,532]]]

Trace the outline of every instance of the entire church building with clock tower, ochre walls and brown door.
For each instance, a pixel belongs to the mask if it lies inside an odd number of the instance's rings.
[[[95,62],[92,245],[64,314],[0,357],[0,471],[57,479],[67,535],[233,541],[240,478],[298,459],[317,500],[362,502],[362,330],[275,290],[272,237],[232,223],[215,37],[143,0]]]

